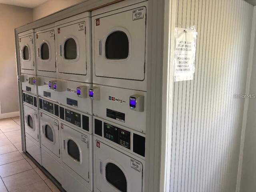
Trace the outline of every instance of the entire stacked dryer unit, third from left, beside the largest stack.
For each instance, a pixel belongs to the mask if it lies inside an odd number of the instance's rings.
[[[93,191],[92,33],[91,13],[55,23],[62,187]]]

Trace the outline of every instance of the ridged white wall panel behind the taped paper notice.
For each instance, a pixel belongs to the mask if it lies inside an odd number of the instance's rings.
[[[194,80],[175,82],[170,191],[235,192],[253,6],[177,0],[176,26],[198,31]]]

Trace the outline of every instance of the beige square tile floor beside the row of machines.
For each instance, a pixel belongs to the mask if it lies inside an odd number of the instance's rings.
[[[59,192],[21,150],[20,118],[0,119],[0,192]]]

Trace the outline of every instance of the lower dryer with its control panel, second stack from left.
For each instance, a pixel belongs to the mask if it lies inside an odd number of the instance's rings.
[[[50,100],[40,100],[40,134],[42,166],[62,183],[63,168],[60,150],[59,105]]]

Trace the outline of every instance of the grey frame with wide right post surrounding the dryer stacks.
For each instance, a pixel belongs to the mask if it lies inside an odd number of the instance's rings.
[[[39,28],[41,26],[54,23],[70,16],[74,16],[86,11],[92,11],[97,8],[108,6],[120,1],[122,0],[87,0],[25,26],[16,28],[15,42],[17,74],[21,75],[18,46],[19,33],[30,29]],[[133,4],[135,2],[140,1],[129,0],[129,4]],[[169,64],[170,58],[172,58],[170,48],[173,46],[173,43],[171,40],[174,37],[174,34],[170,34],[170,29],[173,29],[175,24],[175,8],[176,0],[148,0],[148,79],[146,103],[147,148],[145,167],[145,191],[147,192],[166,191],[167,187],[165,186],[168,183],[169,177],[168,173],[166,172],[166,167],[169,166],[167,163],[168,149],[166,143],[168,143],[167,138],[169,138],[169,134],[171,132],[171,130],[167,131],[167,128],[171,127],[172,122],[171,118],[168,119],[168,117],[171,117],[170,113],[172,111],[172,101],[170,99],[168,89],[172,86],[172,67],[170,67]],[[170,10],[174,11],[171,12]],[[22,133],[22,150],[26,152],[21,84],[18,85],[18,90]],[[164,186],[160,186],[160,177],[161,184],[164,184]],[[51,178],[51,180],[53,179]],[[58,182],[54,182],[54,184],[60,187]],[[163,188],[164,190],[162,190]],[[60,189],[62,190],[61,187]]]

